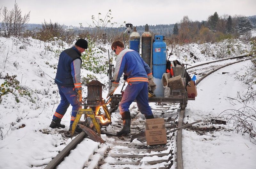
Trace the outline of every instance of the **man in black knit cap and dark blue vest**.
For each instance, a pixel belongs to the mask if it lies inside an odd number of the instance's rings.
[[[60,124],[62,117],[65,115],[69,105],[72,106],[69,131],[72,129],[72,124],[76,118],[78,109],[82,102],[82,83],[81,83],[81,53],[87,49],[88,43],[85,39],[78,39],[75,46],[66,49],[60,53],[57,74],[55,83],[58,86],[60,93],[60,104],[58,105],[53,117],[51,128],[65,128],[65,125]],[[77,132],[82,131],[77,126]]]

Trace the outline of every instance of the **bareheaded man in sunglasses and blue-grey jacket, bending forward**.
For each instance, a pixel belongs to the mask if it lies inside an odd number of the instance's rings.
[[[125,49],[123,42],[120,40],[114,41],[111,49],[117,54],[117,58],[113,82],[107,98],[112,95],[118,87],[123,73],[124,77],[127,77],[126,81],[128,82],[122,100],[119,103],[119,111],[124,126],[116,135],[122,135],[131,132],[131,114],[129,107],[135,99],[140,112],[145,115],[146,119],[154,118],[148,104],[148,87],[154,91],[156,84],[152,79],[153,76],[150,67],[143,61],[139,53],[131,49]]]

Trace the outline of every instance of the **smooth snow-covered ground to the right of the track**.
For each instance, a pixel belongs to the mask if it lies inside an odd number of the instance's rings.
[[[207,76],[197,85],[197,97],[195,101],[188,101],[185,110],[184,123],[192,123],[202,119],[200,127],[216,128],[225,127],[233,130],[232,123],[227,125],[210,124],[226,109],[240,109],[243,103],[228,99],[236,98],[237,92],[244,94],[246,85],[234,79],[236,71],[243,72],[243,66],[248,66],[250,60],[224,67],[214,74]],[[222,72],[229,72],[222,74]],[[256,105],[249,105],[256,109]],[[230,112],[229,112],[230,113]],[[227,116],[224,116],[227,117]],[[219,118],[227,121],[225,118]],[[206,123],[205,123],[206,122]],[[196,132],[182,131],[182,151],[184,169],[189,168],[255,168],[256,145],[250,142],[246,133],[220,130],[205,135],[198,135]]]

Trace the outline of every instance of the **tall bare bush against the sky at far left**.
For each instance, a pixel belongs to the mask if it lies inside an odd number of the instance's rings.
[[[29,21],[30,11],[22,17],[21,10],[15,0],[14,8],[11,11],[8,11],[6,6],[4,7],[2,17],[3,20],[1,24],[4,36],[18,37],[21,35],[22,30],[26,27]]]

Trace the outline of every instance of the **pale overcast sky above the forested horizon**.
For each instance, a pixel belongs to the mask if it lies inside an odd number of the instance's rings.
[[[14,0],[0,0],[1,6],[12,9]],[[30,11],[29,23],[41,24],[44,19],[64,25],[88,26],[91,16],[104,18],[112,11],[112,21],[136,25],[174,24],[183,16],[192,21],[207,20],[216,11],[222,15],[256,15],[256,0],[16,0],[23,12]],[[88,24],[87,24],[88,23]]]

